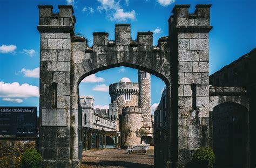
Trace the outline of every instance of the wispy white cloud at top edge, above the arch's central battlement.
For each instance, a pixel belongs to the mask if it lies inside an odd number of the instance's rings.
[[[122,9],[122,6],[120,6],[119,1],[114,0],[98,0],[100,5],[97,7],[99,12],[102,12],[103,10],[106,11],[106,16],[112,21],[126,21],[127,19],[134,20],[136,18],[136,12],[134,10],[132,11],[124,11]],[[126,4],[129,3],[129,1],[125,1]]]

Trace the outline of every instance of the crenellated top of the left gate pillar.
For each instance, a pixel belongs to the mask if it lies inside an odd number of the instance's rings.
[[[64,29],[74,32],[76,17],[73,16],[72,5],[58,5],[59,12],[52,12],[52,5],[38,5],[39,8],[39,32],[43,29]]]

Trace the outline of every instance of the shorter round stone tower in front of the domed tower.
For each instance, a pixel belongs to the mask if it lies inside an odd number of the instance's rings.
[[[138,145],[140,137],[137,130],[143,126],[142,112],[137,106],[127,106],[122,108],[122,145]],[[131,134],[125,138],[125,130],[131,129]],[[126,141],[125,141],[126,139]]]

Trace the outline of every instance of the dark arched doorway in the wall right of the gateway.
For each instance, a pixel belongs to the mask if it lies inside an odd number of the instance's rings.
[[[247,167],[248,110],[238,103],[225,102],[212,111],[213,151],[216,167]]]

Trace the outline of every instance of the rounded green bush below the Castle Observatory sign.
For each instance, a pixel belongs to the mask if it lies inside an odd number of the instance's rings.
[[[22,156],[23,168],[38,168],[41,167],[42,156],[35,149],[26,150]]]

